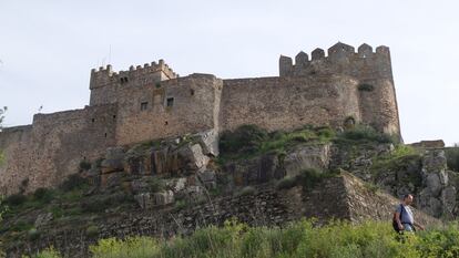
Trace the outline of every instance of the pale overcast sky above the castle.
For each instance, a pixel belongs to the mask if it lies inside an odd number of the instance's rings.
[[[391,51],[406,143],[459,142],[459,2],[0,0],[6,125],[89,104],[90,70],[164,59],[182,76],[278,74],[278,56],[337,41]]]

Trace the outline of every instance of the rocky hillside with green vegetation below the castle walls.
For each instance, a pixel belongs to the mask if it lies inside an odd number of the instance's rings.
[[[416,204],[421,210],[456,216],[450,189],[457,173],[446,169],[446,161],[443,169],[441,149],[405,146],[364,125],[272,133],[245,125],[221,136],[216,157],[200,144],[184,136],[110,149],[99,161],[82,161],[80,173],[59,188],[9,196],[2,205],[9,208],[0,227],[3,248],[11,257],[50,246],[57,249],[38,257],[429,257],[440,247],[449,257],[457,251],[450,240],[455,230],[417,210],[422,223],[437,226],[406,239],[404,256],[388,223],[397,204],[390,195],[407,192],[429,200]],[[448,184],[428,180],[443,174]],[[452,208],[443,208],[451,198]],[[304,217],[317,220],[299,223]],[[361,225],[328,225],[333,218]],[[334,234],[339,237],[327,244]],[[376,246],[376,236],[385,239],[382,246]],[[435,250],[427,246],[434,238]]]

